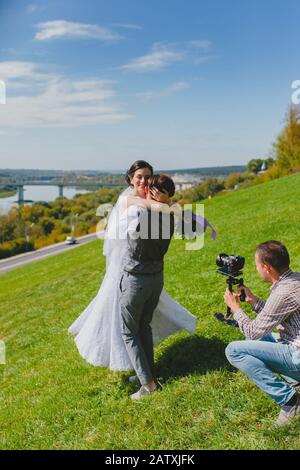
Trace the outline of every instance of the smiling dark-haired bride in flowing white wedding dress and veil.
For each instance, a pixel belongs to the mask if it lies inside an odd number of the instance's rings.
[[[103,254],[106,273],[96,297],[70,326],[79,354],[94,366],[107,366],[112,370],[130,370],[119,319],[119,281],[123,250],[126,246],[126,228],[119,215],[127,208],[128,200],[145,199],[147,180],[153,175],[152,166],[138,160],[127,171],[129,188],[123,191],[112,210],[106,228]],[[156,191],[153,197],[168,203],[165,194]],[[117,235],[117,236],[116,236]],[[163,289],[151,323],[154,344],[179,331],[194,333],[196,317],[173,300]]]

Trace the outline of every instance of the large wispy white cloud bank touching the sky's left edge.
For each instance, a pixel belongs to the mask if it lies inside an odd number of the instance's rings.
[[[114,102],[114,81],[73,81],[44,74],[38,64],[29,62],[0,62],[1,74],[8,80],[6,105],[0,108],[3,130],[80,127],[133,117]],[[26,93],[22,90],[24,85]],[[13,88],[19,88],[17,96],[11,93]]]

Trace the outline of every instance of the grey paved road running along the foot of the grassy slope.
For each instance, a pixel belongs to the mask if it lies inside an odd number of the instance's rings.
[[[65,242],[56,243],[55,245],[47,246],[46,248],[41,248],[40,250],[23,253],[21,255],[0,260],[0,274],[4,274],[8,271],[11,271],[12,269],[24,266],[25,264],[39,261],[40,259],[49,258],[49,256],[54,256],[69,250],[74,250],[78,246],[84,245],[85,243],[96,239],[97,235],[92,233],[90,235],[77,238],[77,243],[75,245],[66,245]]]

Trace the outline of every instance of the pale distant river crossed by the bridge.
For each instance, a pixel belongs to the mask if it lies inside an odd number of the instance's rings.
[[[86,194],[86,189],[64,188],[64,197],[72,198],[75,194]],[[31,201],[54,201],[58,197],[57,186],[24,186],[24,199]],[[18,194],[11,197],[0,198],[0,215],[6,214],[13,206],[16,206]]]

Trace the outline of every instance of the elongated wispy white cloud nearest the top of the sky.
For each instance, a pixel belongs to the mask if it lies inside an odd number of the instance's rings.
[[[37,25],[38,32],[35,39],[45,41],[50,39],[83,39],[92,38],[102,41],[119,41],[122,39],[109,28],[93,24],[74,23],[65,20],[46,21]]]

